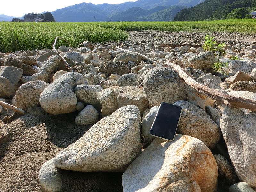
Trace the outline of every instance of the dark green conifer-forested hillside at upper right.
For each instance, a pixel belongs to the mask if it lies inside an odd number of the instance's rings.
[[[204,21],[226,19],[234,9],[256,7],[256,0],[205,0],[203,3],[182,9],[173,21]],[[253,9],[247,9],[248,12]],[[256,10],[254,10],[256,11]]]

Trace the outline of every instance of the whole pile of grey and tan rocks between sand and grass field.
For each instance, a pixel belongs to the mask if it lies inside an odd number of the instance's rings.
[[[1,98],[13,98],[14,106],[31,115],[34,108],[53,116],[77,114],[76,125],[92,125],[79,140],[44,163],[39,182],[45,191],[60,190],[60,169],[124,172],[125,192],[214,192],[218,174],[227,185],[236,185],[232,188],[256,188],[256,113],[226,107],[200,94],[174,69],[163,66],[171,61],[211,89],[256,100],[254,45],[229,42],[225,61],[231,55],[243,60],[230,61],[221,68],[225,74],[214,71],[214,53],[202,48],[128,41],[83,45],[58,50],[74,72],[48,50],[1,59]],[[101,50],[92,52],[100,46]],[[141,53],[161,67],[134,53],[104,50],[116,46]],[[161,102],[182,107],[172,142],[149,134]],[[236,184],[239,180],[246,183]]]

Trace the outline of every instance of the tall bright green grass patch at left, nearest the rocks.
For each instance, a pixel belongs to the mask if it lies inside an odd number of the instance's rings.
[[[12,23],[0,22],[0,52],[52,49],[55,37],[66,39],[73,47],[83,41],[125,41],[128,34],[121,29],[91,25],[90,23]],[[56,47],[69,46],[58,40]]]

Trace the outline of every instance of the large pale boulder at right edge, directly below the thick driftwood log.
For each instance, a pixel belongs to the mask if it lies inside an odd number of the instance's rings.
[[[245,114],[241,108],[226,107],[220,128],[236,175],[251,187],[256,187],[256,113]]]

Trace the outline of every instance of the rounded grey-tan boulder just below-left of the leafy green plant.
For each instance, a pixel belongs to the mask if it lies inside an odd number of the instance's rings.
[[[208,70],[213,67],[215,56],[213,52],[207,51],[196,55],[188,61],[188,65],[193,68]]]

